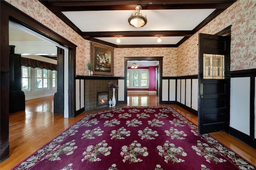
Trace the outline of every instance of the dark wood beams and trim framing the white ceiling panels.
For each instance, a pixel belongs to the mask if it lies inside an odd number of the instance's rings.
[[[148,1],[140,1],[139,4],[143,10],[169,10],[169,9],[216,9],[210,14],[204,21],[202,21],[196,28],[190,31],[116,31],[116,32],[81,32],[81,30],[74,25],[62,12],[65,11],[100,11],[100,10],[134,10],[138,5],[138,1],[61,1],[56,0],[39,0],[46,8],[52,11],[62,21],[69,25],[74,31],[84,37],[86,40],[94,41],[104,45],[108,45],[115,48],[149,48],[149,47],[178,47],[184,43],[189,37],[197,33],[207,23],[212,21],[216,16],[231,6],[236,0],[222,1],[191,1],[191,0],[159,0],[151,1],[152,4],[148,4]],[[105,41],[100,41],[93,37],[145,37],[145,36],[184,36],[177,44],[169,45],[115,45]]]

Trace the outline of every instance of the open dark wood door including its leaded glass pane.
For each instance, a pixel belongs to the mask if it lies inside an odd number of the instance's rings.
[[[229,50],[228,50],[229,51]],[[224,131],[227,104],[225,79],[226,38],[199,34],[199,134]]]

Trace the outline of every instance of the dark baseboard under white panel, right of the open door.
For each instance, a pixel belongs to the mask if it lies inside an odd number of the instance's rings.
[[[231,136],[239,139],[240,141],[246,143],[247,145],[249,145],[250,147],[256,149],[256,142],[255,142],[255,138],[250,137],[249,135],[246,135],[245,133],[242,133],[232,127],[230,127],[230,133]]]

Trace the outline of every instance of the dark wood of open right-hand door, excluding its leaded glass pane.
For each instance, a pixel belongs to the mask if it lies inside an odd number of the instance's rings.
[[[199,34],[198,131],[226,131],[230,117],[230,35]],[[225,79],[203,78],[203,54],[225,55]]]

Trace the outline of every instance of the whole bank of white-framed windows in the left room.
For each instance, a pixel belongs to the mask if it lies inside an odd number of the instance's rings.
[[[37,92],[57,88],[57,71],[22,66],[22,91]]]

